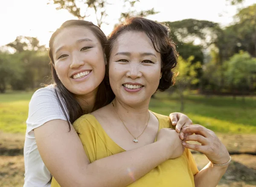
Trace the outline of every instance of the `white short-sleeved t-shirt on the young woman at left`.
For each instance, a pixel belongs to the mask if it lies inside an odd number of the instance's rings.
[[[53,119],[67,120],[56,99],[55,88],[49,85],[37,90],[29,102],[24,144],[25,182],[23,187],[50,186],[46,185],[50,180],[50,173],[38,152],[34,129]]]

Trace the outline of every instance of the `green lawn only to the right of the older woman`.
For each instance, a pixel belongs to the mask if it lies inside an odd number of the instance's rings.
[[[168,93],[156,94],[151,99],[150,109],[156,113],[169,115],[180,112],[178,96],[169,96]],[[205,127],[218,133],[256,133],[256,98],[247,97],[245,102],[241,98],[233,100],[227,96],[186,96],[186,115],[194,124]]]

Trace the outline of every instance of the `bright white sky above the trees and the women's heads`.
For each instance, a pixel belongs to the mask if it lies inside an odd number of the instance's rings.
[[[41,45],[48,47],[52,32],[66,20],[77,19],[67,10],[56,10],[56,5],[47,4],[48,0],[0,0],[0,46],[6,45],[17,36],[37,37]],[[121,0],[109,0],[105,19],[108,25],[102,25],[102,31],[108,35],[118,19],[123,5]],[[227,26],[232,23],[233,15],[238,8],[256,3],[256,0],[245,0],[239,6],[230,6],[226,0],[140,0],[136,10],[154,7],[160,13],[148,16],[148,19],[177,21],[183,19],[209,20]],[[93,12],[85,20],[96,24]]]

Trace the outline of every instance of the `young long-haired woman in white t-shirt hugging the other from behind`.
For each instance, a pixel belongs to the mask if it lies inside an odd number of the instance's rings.
[[[139,177],[165,160],[162,154],[172,146],[169,132],[161,133],[156,143],[87,163],[81,140],[71,124],[113,100],[113,92],[104,78],[106,41],[97,26],[82,20],[67,21],[52,34],[49,56],[54,84],[36,91],[29,103],[24,187],[49,186],[50,173],[81,186],[91,180],[97,183],[102,176],[110,185],[119,185],[121,180],[130,178],[124,174],[129,166],[136,167]],[[181,113],[172,113],[171,118],[176,122],[179,119],[178,128],[191,124]],[[183,133],[180,136],[183,138]],[[140,157],[134,160],[133,155]],[[109,172],[112,169],[115,172]]]

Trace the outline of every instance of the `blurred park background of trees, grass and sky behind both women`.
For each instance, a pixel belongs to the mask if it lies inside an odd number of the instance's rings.
[[[50,84],[48,42],[70,19],[106,35],[140,15],[171,30],[180,55],[175,85],[150,109],[179,111],[214,130],[233,161],[218,187],[256,187],[256,0],[1,0],[0,186],[23,185],[28,104]],[[193,153],[198,168],[208,160]]]

